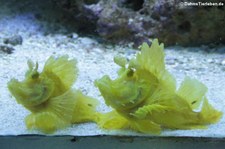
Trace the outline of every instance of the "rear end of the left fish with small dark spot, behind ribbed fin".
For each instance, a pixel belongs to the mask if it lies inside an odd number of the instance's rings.
[[[96,122],[98,119],[96,111],[96,106],[99,104],[98,100],[83,95],[80,91],[76,91],[75,99],[72,123]]]

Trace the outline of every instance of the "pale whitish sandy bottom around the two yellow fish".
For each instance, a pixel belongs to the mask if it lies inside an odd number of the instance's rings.
[[[22,80],[27,70],[27,60],[38,61],[40,70],[46,59],[51,56],[68,54],[78,61],[79,77],[74,88],[100,101],[98,110],[111,109],[104,104],[103,98],[94,86],[95,79],[103,75],[116,77],[118,66],[113,63],[115,55],[133,57],[136,50],[129,47],[112,46],[98,43],[94,38],[81,37],[61,23],[46,22],[37,19],[31,11],[15,12],[9,4],[0,7],[0,45],[3,39],[12,35],[21,35],[23,44],[11,46],[12,54],[0,51],[0,135],[41,134],[26,129],[24,118],[29,114],[22,105],[16,103],[7,89],[11,78]],[[36,11],[36,9],[34,10]],[[54,30],[54,31],[52,31]],[[225,47],[220,47],[223,50]],[[209,49],[213,51],[213,49]],[[188,75],[197,78],[208,87],[207,97],[218,110],[225,112],[225,54],[206,52],[201,48],[171,47],[165,49],[166,66],[176,77],[179,84]],[[164,130],[162,136],[225,137],[225,118],[210,125],[205,130]],[[106,131],[94,123],[72,125],[55,135],[143,135],[131,131]]]

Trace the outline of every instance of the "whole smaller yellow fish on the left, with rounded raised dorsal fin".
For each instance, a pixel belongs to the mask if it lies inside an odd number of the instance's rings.
[[[52,133],[71,123],[96,121],[97,101],[72,89],[77,77],[76,60],[68,56],[50,57],[41,73],[38,64],[28,61],[23,81],[8,82],[11,94],[31,111],[25,119],[28,129]]]

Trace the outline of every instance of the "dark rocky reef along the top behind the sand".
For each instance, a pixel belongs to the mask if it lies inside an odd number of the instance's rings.
[[[158,38],[166,45],[225,43],[225,3],[220,0],[60,0],[53,2],[77,22],[79,31],[114,43]]]

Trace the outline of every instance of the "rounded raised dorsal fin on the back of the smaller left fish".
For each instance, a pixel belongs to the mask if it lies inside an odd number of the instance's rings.
[[[51,72],[58,76],[66,88],[70,88],[77,78],[76,60],[68,60],[68,55],[54,58],[51,56],[45,63],[43,73]]]

